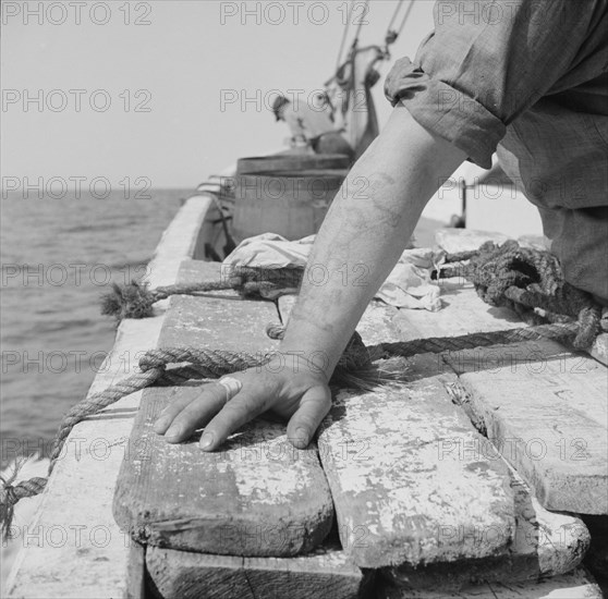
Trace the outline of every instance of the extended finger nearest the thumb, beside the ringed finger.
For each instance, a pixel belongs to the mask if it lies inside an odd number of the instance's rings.
[[[244,388],[205,427],[205,432],[200,437],[200,449],[214,451],[234,430],[266,412],[272,399],[268,391],[260,392],[260,390]]]

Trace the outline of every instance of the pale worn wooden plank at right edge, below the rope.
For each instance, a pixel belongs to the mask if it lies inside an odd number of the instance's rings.
[[[549,510],[608,513],[608,377],[555,342],[450,353],[461,401]]]

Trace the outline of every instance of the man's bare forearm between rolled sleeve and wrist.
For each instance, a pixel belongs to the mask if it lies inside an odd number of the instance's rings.
[[[281,352],[329,376],[426,203],[466,158],[398,107],[352,168],[317,235]],[[302,355],[302,354],[301,354]]]

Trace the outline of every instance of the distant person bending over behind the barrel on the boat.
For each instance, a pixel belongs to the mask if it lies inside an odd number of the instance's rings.
[[[304,142],[316,154],[343,154],[354,158],[354,150],[344,138],[343,130],[336,129],[326,98],[319,98],[319,106],[312,107],[305,100],[291,101],[284,96],[277,96],[272,112],[277,121],[289,125],[295,143]]]

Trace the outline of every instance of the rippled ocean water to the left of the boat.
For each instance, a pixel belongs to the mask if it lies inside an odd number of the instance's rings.
[[[100,315],[100,295],[112,281],[141,278],[189,194],[2,196],[2,466],[17,452],[48,454],[63,414],[85,396],[113,345],[115,322]]]

